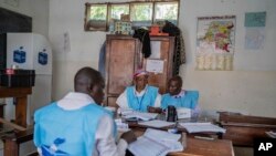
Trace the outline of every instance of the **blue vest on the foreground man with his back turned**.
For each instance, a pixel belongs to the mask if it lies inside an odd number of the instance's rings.
[[[43,156],[91,156],[98,122],[106,114],[96,104],[66,111],[52,103],[34,114],[34,144]],[[51,150],[52,145],[57,150]]]

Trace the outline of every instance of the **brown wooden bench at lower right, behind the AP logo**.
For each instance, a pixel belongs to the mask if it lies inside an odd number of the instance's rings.
[[[276,118],[219,112],[220,125],[226,129],[223,139],[231,139],[234,146],[252,147],[254,138],[267,137],[265,132],[276,131]]]

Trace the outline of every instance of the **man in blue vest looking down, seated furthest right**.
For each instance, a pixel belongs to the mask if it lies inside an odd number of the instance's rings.
[[[174,107],[191,108],[192,113],[198,113],[199,91],[182,90],[182,79],[177,75],[169,80],[167,94],[162,95],[161,107],[166,110],[169,105]]]

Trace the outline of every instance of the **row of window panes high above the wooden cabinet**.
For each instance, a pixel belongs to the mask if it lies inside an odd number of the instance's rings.
[[[162,25],[166,20],[178,24],[179,0],[121,3],[86,3],[85,31],[107,31],[112,20],[128,14],[132,27]]]

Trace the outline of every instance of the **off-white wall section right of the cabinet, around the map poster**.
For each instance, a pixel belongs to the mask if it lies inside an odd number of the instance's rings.
[[[276,116],[276,1],[184,0],[180,28],[184,32],[188,63],[181,67],[185,89],[200,91],[204,110],[225,110],[252,115]],[[266,11],[263,50],[244,49],[245,12]],[[195,71],[197,17],[236,15],[234,71]]]

